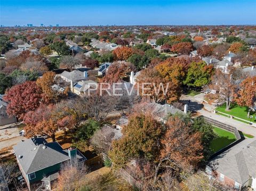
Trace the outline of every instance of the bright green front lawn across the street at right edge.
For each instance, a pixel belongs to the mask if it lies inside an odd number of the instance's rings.
[[[238,117],[238,118],[241,118],[241,119],[244,119],[244,120],[247,120],[247,121],[250,121],[250,118],[247,118],[247,112],[248,112],[247,107],[241,107],[237,104],[231,104],[230,111],[226,111],[226,103],[225,103],[225,104],[217,107],[216,110],[220,111],[220,112],[223,112],[223,113],[227,113],[229,115],[233,115],[235,117]],[[255,112],[251,111],[250,115],[253,116],[251,122],[255,123],[256,122]],[[239,120],[239,121],[242,121],[242,120]],[[245,121],[242,121],[242,122],[245,122]]]

